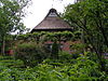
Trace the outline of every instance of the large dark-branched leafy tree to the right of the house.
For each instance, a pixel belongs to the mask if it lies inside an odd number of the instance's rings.
[[[83,29],[84,42],[95,51],[102,70],[105,70],[103,54],[108,49],[108,1],[85,0],[66,8],[65,19],[75,26]]]

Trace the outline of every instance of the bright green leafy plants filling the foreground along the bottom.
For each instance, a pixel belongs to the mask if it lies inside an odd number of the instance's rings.
[[[13,67],[23,64],[14,60],[13,57],[0,57],[0,80],[1,81],[107,81],[108,76],[100,71],[98,64],[90,60],[86,56],[78,57],[72,62],[59,63],[64,59],[44,59],[36,67],[19,68]],[[4,63],[9,59],[8,63]],[[15,63],[10,68],[5,64]],[[67,59],[68,60],[68,59]],[[53,64],[55,63],[55,64]],[[3,65],[4,64],[4,65]]]

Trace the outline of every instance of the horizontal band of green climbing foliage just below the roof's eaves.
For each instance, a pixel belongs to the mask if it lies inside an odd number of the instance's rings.
[[[18,35],[16,36],[17,40],[32,40],[36,42],[44,42],[44,41],[68,41],[75,39],[73,33],[71,31],[58,31],[58,32],[33,32],[33,33],[26,33],[26,35]]]

